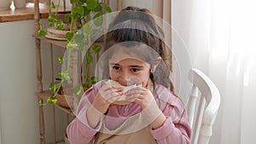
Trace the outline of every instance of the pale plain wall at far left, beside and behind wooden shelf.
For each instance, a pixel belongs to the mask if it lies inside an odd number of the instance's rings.
[[[37,69],[35,41],[32,37],[33,20],[0,23],[0,130],[2,144],[39,143]],[[49,78],[49,46],[42,44],[44,88],[47,89]],[[63,50],[55,49],[55,55],[62,55]],[[56,62],[56,59],[55,63]],[[58,68],[58,65],[56,65]],[[60,66],[59,66],[60,67]],[[55,72],[57,73],[57,72]],[[53,139],[51,106],[45,107],[45,130]],[[65,132],[66,117],[60,110],[58,115],[58,137]],[[64,120],[63,120],[64,119]]]

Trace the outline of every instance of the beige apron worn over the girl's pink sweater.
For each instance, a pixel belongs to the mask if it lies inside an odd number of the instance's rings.
[[[116,130],[108,130],[103,121],[102,130],[96,134],[94,144],[155,144],[150,124],[144,117],[143,112],[140,112],[127,118]]]

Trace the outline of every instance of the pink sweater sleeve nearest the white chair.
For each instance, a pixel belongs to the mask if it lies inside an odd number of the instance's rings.
[[[168,101],[162,111],[166,115],[165,123],[157,130],[150,130],[158,144],[190,144],[191,129],[187,111],[176,97]]]

